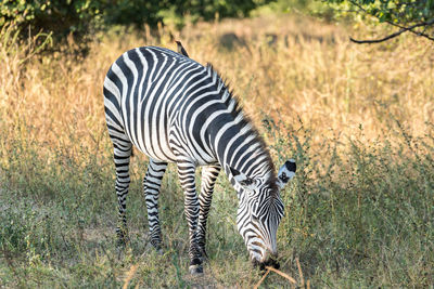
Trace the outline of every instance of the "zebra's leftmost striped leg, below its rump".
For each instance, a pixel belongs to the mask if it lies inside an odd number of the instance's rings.
[[[129,188],[129,159],[132,152],[130,142],[114,143],[114,161],[116,167],[116,195],[118,203],[118,220],[116,227],[117,244],[128,242],[126,202]]]

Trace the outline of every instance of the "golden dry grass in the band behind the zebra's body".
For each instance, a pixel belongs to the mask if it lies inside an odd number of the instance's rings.
[[[25,70],[17,67],[25,55],[3,55],[2,120],[28,120],[40,141],[50,144],[67,142],[73,133],[82,144],[94,145],[105,130],[101,83],[107,67],[135,47],[175,49],[169,31],[159,32],[162,37],[138,37],[122,31],[94,43],[85,60],[55,55],[29,63]],[[434,120],[429,41],[408,37],[356,45],[342,28],[302,17],[201,23],[173,34],[193,58],[213,63],[229,79],[257,123],[265,113],[294,126],[302,120],[319,137],[330,130],[350,136],[360,123],[367,136],[375,137],[395,121],[414,135],[432,132],[425,126]],[[221,39],[227,34],[242,43],[226,50],[221,42],[230,37]]]

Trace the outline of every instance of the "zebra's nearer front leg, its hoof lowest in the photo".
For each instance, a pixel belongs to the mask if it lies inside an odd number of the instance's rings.
[[[191,162],[178,162],[178,175],[184,192],[184,213],[189,224],[190,237],[190,273],[203,273],[202,253],[197,246],[197,216],[199,198],[195,189],[195,165]]]

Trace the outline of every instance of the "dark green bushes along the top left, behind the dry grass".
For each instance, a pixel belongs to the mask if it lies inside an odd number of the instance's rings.
[[[151,27],[164,21],[164,15],[177,17],[180,25],[184,16],[209,21],[216,17],[241,17],[260,4],[272,0],[67,0],[25,1],[4,0],[0,2],[0,28],[14,24],[20,28],[35,31],[53,31],[55,37],[71,32],[85,36],[94,29],[112,25]]]

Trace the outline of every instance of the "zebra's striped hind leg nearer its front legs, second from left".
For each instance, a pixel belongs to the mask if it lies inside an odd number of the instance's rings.
[[[167,162],[150,159],[146,175],[143,179],[143,193],[146,200],[148,222],[151,244],[155,249],[162,247],[162,229],[158,219],[158,196]]]

